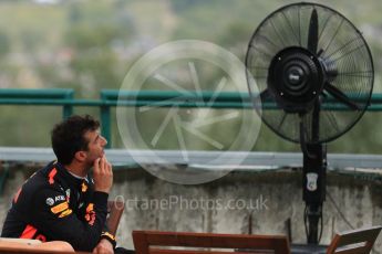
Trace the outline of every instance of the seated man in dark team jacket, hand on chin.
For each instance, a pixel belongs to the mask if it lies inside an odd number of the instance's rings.
[[[65,241],[75,251],[131,253],[115,250],[105,226],[113,170],[91,116],[72,116],[52,130],[56,161],[30,177],[16,193],[2,237]],[[93,168],[93,178],[89,176]]]

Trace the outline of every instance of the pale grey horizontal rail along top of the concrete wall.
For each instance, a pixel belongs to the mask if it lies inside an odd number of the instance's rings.
[[[208,151],[192,150],[187,151],[187,160],[179,150],[125,150],[125,149],[106,149],[109,161],[113,165],[188,165],[189,167],[221,167],[237,166],[240,167],[302,167],[301,152],[264,152],[264,151]],[[161,158],[161,159],[158,159]],[[220,158],[216,160],[216,158]],[[1,161],[34,161],[48,162],[55,159],[51,148],[37,147],[0,147]],[[233,161],[238,165],[233,165]],[[240,161],[240,162],[238,162]],[[350,155],[350,154],[328,154],[328,167],[332,169],[364,168],[378,170],[382,165],[380,155]]]

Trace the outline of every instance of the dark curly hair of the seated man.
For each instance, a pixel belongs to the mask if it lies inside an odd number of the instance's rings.
[[[96,130],[100,121],[93,117],[71,116],[54,126],[52,130],[52,147],[58,161],[63,165],[72,162],[75,152],[87,150],[89,140],[84,135],[87,130]]]

